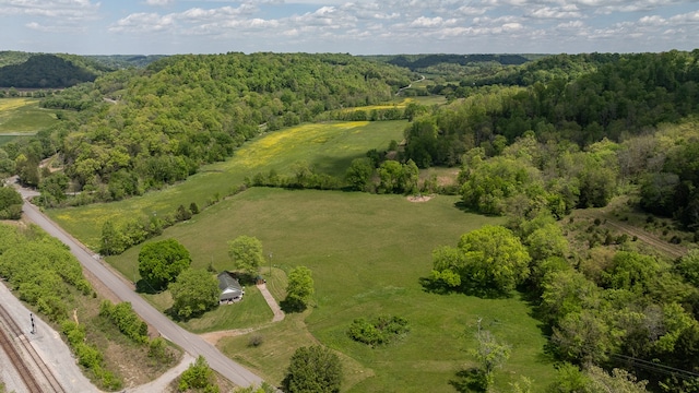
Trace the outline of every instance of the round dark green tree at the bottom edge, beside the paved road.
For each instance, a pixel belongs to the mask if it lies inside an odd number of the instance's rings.
[[[296,349],[282,381],[287,393],[335,393],[342,383],[342,364],[332,350],[313,345]]]

